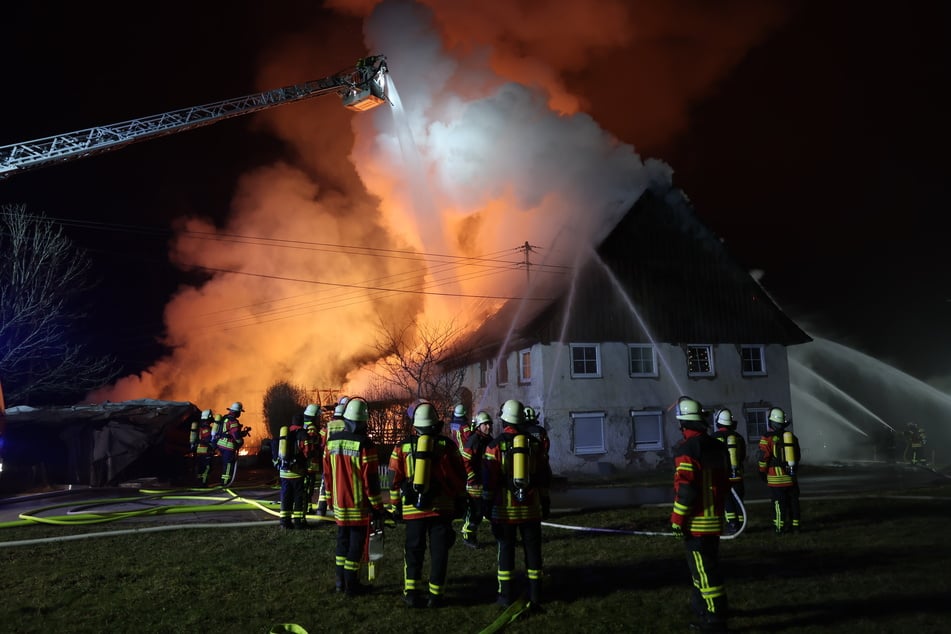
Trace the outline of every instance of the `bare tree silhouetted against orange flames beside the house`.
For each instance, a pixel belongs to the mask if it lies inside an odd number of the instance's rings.
[[[376,375],[408,401],[426,399],[446,412],[459,398],[465,364],[457,348],[462,330],[454,321],[377,326],[376,351],[381,361]],[[452,369],[447,362],[453,361]]]

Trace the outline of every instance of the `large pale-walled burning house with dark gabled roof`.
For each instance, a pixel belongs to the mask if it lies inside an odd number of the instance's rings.
[[[464,362],[469,411],[495,417],[510,398],[535,408],[556,474],[670,464],[681,395],[730,408],[754,445],[770,407],[791,414],[786,348],[811,338],[679,190],[645,192],[576,275],[530,315],[503,308]]]

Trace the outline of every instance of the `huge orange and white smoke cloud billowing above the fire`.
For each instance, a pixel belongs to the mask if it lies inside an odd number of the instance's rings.
[[[518,248],[571,264],[669,182],[633,143],[682,132],[690,103],[781,19],[763,2],[330,5],[364,18],[394,107],[352,114],[328,97],[260,115],[289,158],[241,177],[222,226],[177,222],[172,261],[206,278],[166,307],[172,352],[91,398],[241,400],[253,418],[277,380],[361,389],[381,323],[477,325],[506,297],[549,292],[558,275],[523,287]],[[335,43],[282,41],[262,87],[327,75],[332,48],[338,69],[364,54]]]

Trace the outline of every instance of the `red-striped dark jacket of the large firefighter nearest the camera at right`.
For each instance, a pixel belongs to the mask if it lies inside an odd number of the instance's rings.
[[[674,450],[674,509],[670,523],[695,537],[719,535],[730,494],[726,445],[706,432],[684,430]]]

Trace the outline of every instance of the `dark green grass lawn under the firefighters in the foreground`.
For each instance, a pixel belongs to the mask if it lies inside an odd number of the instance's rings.
[[[803,532],[776,537],[768,505],[751,502],[747,531],[721,542],[738,632],[951,631],[951,485],[856,499],[803,498]],[[669,507],[554,516],[544,529],[545,611],[507,632],[683,632],[689,577]],[[403,527],[386,533],[370,595],[334,592],[330,525],[280,531],[276,520],[49,543],[22,540],[128,531],[125,520],[0,529],[0,630],[6,632],[478,633],[501,613],[495,548],[452,549],[448,605],[410,610],[400,600]],[[148,522],[133,526],[146,527]],[[566,528],[571,527],[571,528]],[[593,527],[621,531],[575,530]],[[427,558],[428,565],[428,558]],[[519,559],[517,570],[524,573]],[[522,579],[519,579],[522,582]]]

